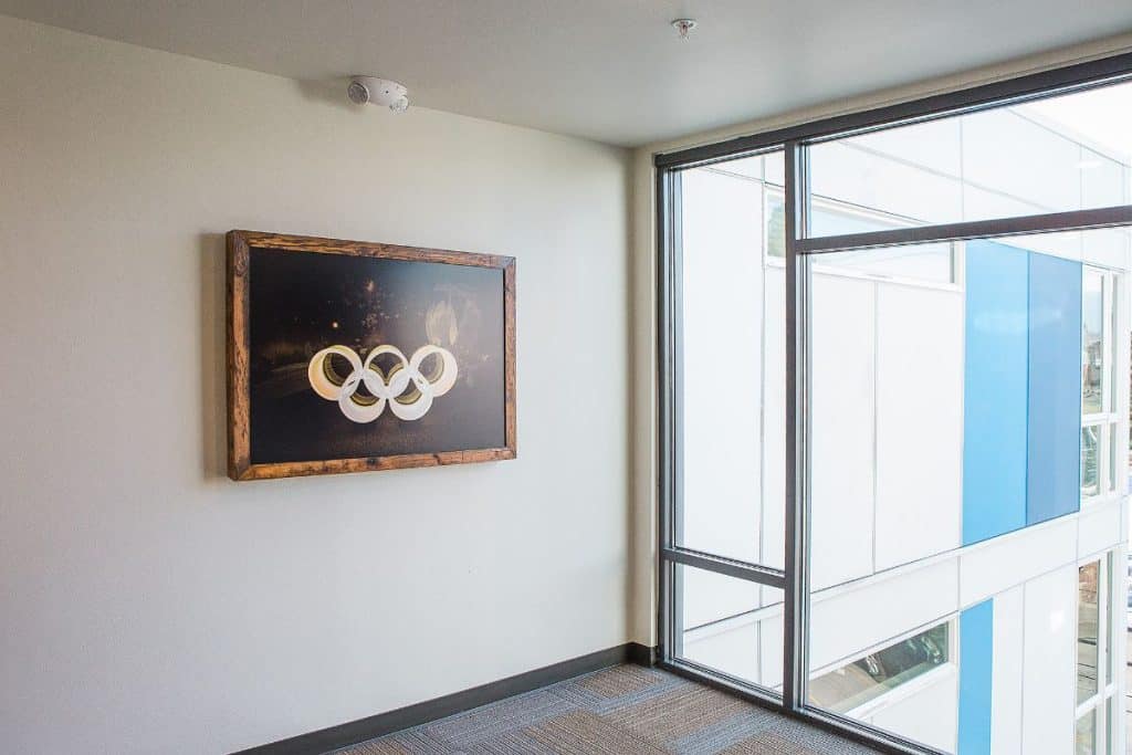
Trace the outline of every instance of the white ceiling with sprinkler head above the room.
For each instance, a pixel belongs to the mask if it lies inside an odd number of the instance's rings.
[[[324,87],[374,74],[417,105],[619,145],[1132,29],[1130,0],[0,0],[0,14]],[[686,42],[680,16],[700,22]]]

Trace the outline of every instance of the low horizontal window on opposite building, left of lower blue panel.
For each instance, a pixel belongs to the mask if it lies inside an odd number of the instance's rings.
[[[846,713],[951,659],[947,624],[876,650],[809,683],[809,702]]]

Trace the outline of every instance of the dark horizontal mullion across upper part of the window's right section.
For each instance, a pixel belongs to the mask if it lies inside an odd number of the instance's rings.
[[[997,239],[1011,235],[1027,235],[1052,231],[1088,231],[1091,229],[1132,225],[1132,205],[1098,207],[1096,209],[1073,209],[1064,213],[1044,213],[1017,217],[996,217],[985,221],[963,221],[937,225],[846,233],[820,238],[798,239],[798,254],[817,255],[850,249],[878,249],[902,247],[936,241],[963,241],[968,239]]]

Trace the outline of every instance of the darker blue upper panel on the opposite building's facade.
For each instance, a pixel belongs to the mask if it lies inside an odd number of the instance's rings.
[[[1081,264],[1030,255],[1026,523],[1081,504]]]

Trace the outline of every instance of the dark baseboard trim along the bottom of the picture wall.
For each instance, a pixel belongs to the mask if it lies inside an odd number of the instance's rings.
[[[657,651],[640,643],[631,642],[608,650],[599,650],[589,655],[573,658],[541,669],[518,674],[499,681],[490,681],[479,687],[424,701],[395,711],[378,713],[336,727],[319,729],[309,733],[281,739],[269,745],[242,749],[233,755],[321,755],[340,747],[357,745],[367,739],[383,737],[394,731],[410,729],[446,715],[462,713],[480,705],[521,695],[539,687],[565,681],[583,674],[598,671],[618,663],[654,666]]]

